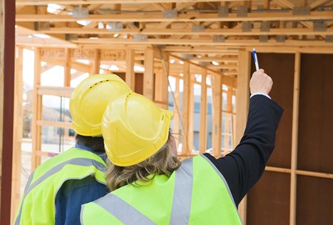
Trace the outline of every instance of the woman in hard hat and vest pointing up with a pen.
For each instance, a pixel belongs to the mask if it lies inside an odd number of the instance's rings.
[[[181,163],[170,111],[135,93],[111,101],[102,124],[111,193],[82,206],[81,224],[242,224],[237,206],[265,169],[283,112],[271,89],[270,76],[256,71],[245,134],[234,151]]]

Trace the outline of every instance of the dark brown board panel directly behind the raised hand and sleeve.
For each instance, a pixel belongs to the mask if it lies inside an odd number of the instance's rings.
[[[270,96],[285,112],[277,130],[275,150],[268,166],[290,168],[292,146],[292,94],[294,89],[294,54],[258,54],[259,66],[273,79]],[[252,73],[255,65],[252,62]]]

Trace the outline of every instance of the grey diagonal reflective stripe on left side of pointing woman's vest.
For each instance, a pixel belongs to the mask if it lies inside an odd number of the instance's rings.
[[[123,222],[123,224],[155,224],[147,216],[141,214],[140,211],[112,193],[107,194],[101,199],[97,199],[94,203],[115,216],[118,220]],[[81,221],[83,221],[82,218]]]

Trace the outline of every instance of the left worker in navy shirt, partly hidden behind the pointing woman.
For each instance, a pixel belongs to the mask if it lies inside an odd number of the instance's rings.
[[[80,224],[81,204],[108,193],[101,120],[108,101],[130,91],[115,74],[78,84],[70,99],[76,145],[29,176],[14,224]]]

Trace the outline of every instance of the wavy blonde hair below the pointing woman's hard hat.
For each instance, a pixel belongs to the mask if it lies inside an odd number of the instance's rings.
[[[139,185],[136,181],[151,181],[156,174],[170,176],[181,164],[180,160],[173,156],[172,139],[173,136],[169,132],[168,141],[160,151],[133,166],[116,166],[107,160],[106,183],[108,189],[114,191],[127,184]],[[153,176],[148,177],[150,174]]]

